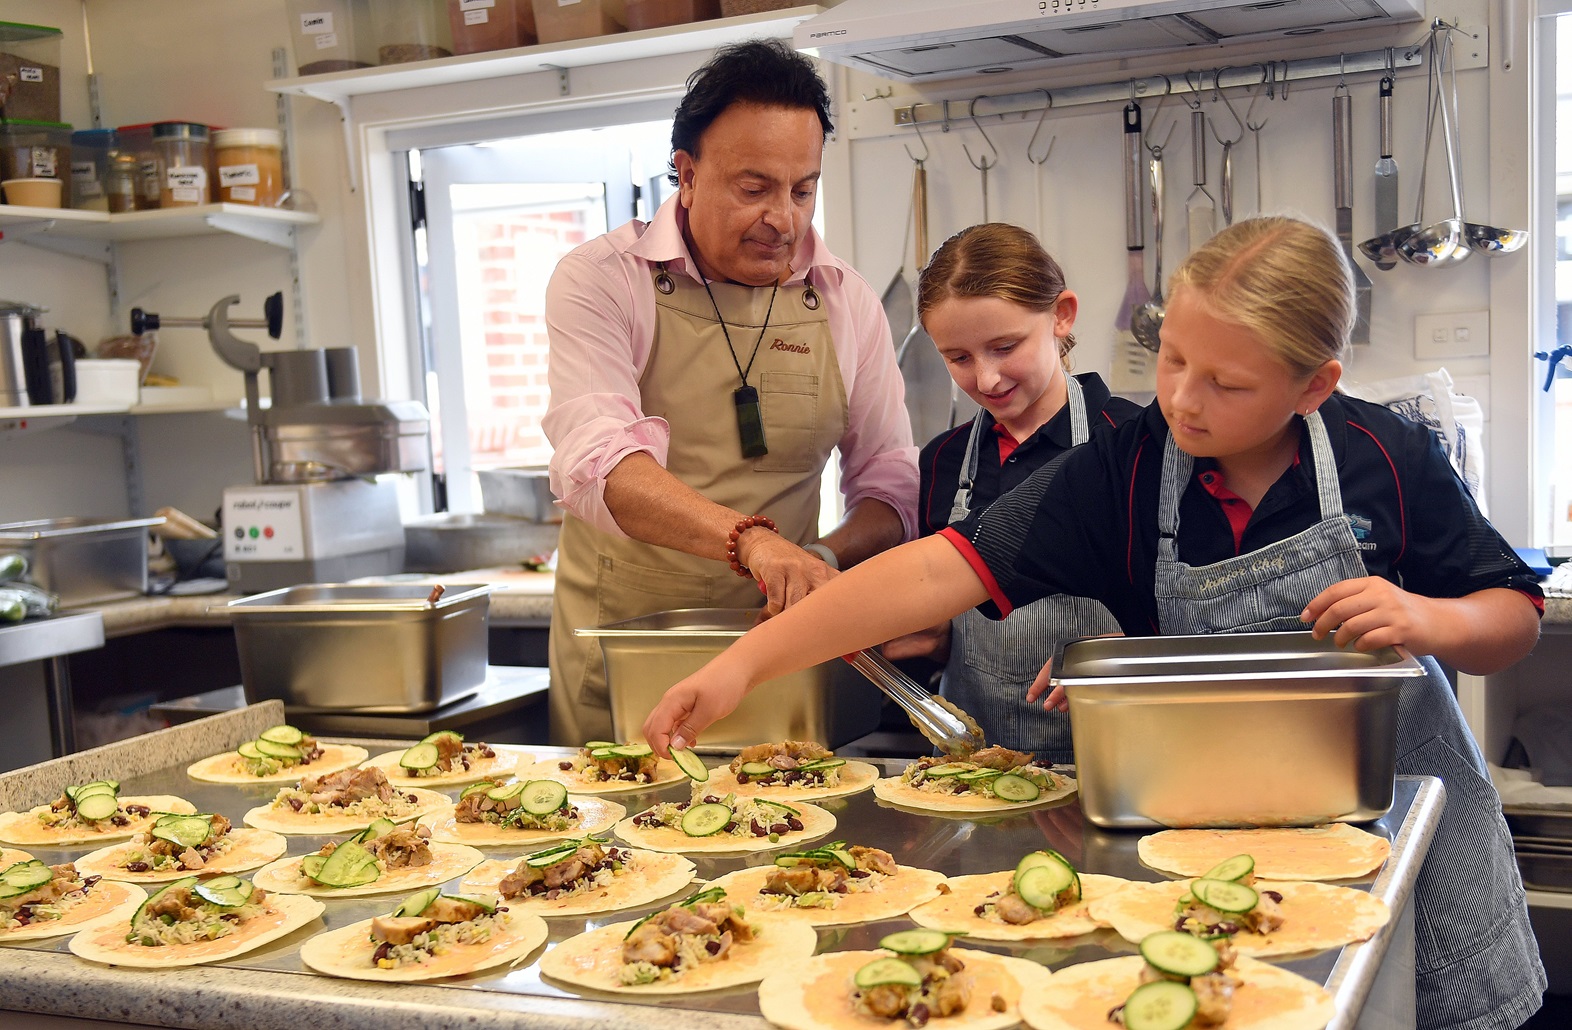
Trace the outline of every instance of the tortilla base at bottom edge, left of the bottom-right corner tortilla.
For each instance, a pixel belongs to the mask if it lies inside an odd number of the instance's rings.
[[[1020,1022],[1025,997],[1047,989],[1050,973],[1044,966],[970,948],[949,951],[965,962],[971,973],[971,999],[965,1010],[951,1016],[935,1016],[927,1025],[943,1030],[994,1030]],[[852,1010],[852,977],[888,951],[830,951],[816,955],[784,969],[772,970],[759,984],[759,1011],[777,1027],[788,1030],[868,1030],[888,1027],[907,1030],[905,1019],[876,1019]],[[1005,1002],[1005,1011],[994,1011],[994,995]],[[1105,1030],[1099,1027],[1099,1030]]]

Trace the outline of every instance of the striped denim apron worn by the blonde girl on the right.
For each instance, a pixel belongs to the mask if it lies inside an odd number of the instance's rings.
[[[1276,544],[1193,568],[1177,560],[1179,497],[1195,461],[1168,439],[1159,500],[1157,620],[1165,635],[1305,629],[1298,613],[1322,590],[1369,572],[1342,514],[1338,469],[1320,412],[1305,418],[1320,522]],[[1434,775],[1446,808],[1413,892],[1418,1025],[1506,1030],[1545,989],[1501,799],[1446,675],[1421,657],[1423,679],[1398,697],[1398,772]]]

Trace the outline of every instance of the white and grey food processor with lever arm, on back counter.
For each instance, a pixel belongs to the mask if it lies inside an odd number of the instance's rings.
[[[426,407],[363,401],[354,348],[263,351],[230,329],[283,327],[283,296],[264,321],[231,321],[239,296],[206,318],[160,318],[135,308],[132,332],[200,327],[214,352],[245,374],[255,483],[223,491],[223,565],[231,590],[259,593],[296,583],[341,583],[404,571],[398,481],[387,473],[428,464]],[[263,407],[266,368],[272,403]]]

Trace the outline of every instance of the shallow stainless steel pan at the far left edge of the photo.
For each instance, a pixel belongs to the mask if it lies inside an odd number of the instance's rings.
[[[0,550],[27,555],[28,579],[83,607],[148,593],[148,527],[154,519],[35,519],[0,525]]]

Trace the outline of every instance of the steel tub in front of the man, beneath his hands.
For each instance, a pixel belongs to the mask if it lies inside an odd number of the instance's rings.
[[[643,739],[645,717],[660,695],[725,651],[756,620],[753,609],[676,609],[575,629],[601,642],[616,739]],[[839,747],[879,727],[882,703],[872,684],[835,659],[761,682],[737,711],[704,730],[695,750],[726,752],[766,741]]]

